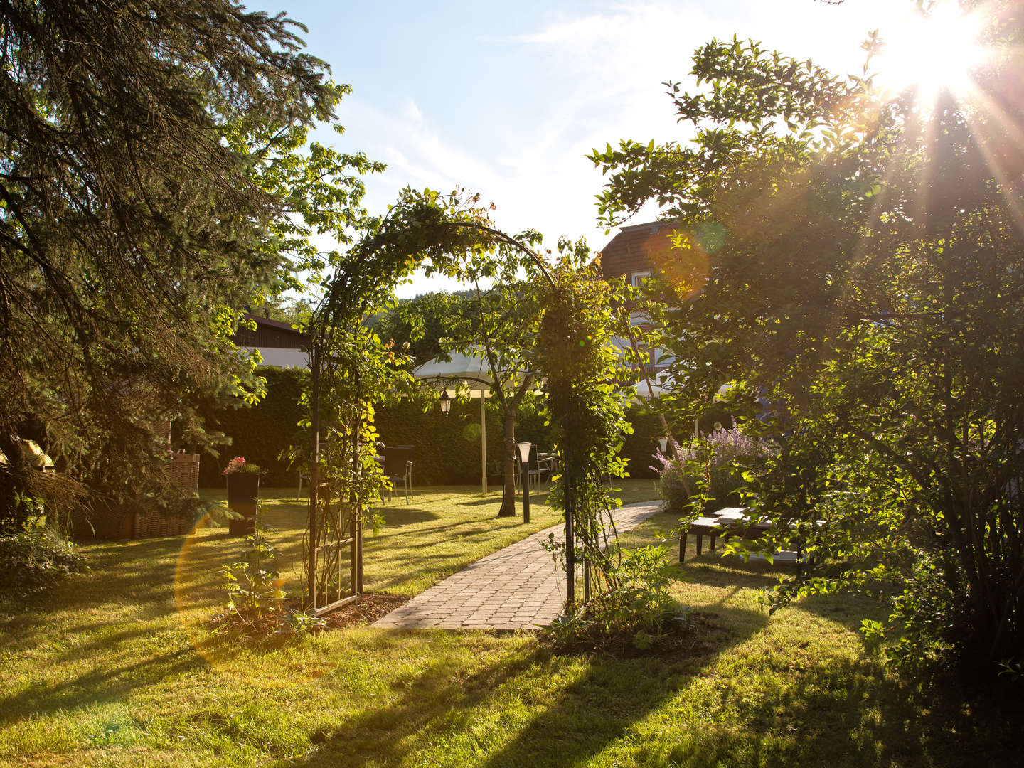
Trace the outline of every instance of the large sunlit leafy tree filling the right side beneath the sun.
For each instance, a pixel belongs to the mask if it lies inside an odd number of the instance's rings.
[[[973,98],[922,105],[713,41],[694,56],[701,90],[670,84],[692,141],[593,155],[611,173],[603,216],[654,199],[677,222],[660,297],[680,418],[730,381],[771,403],[781,451],[758,510],[782,524],[765,548],[816,555],[776,604],[881,590],[894,658],[947,650],[989,671],[1024,649],[1010,8],[988,6]]]

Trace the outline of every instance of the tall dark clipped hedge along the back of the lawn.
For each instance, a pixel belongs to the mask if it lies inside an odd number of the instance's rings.
[[[305,371],[263,369],[267,396],[248,409],[226,409],[217,415],[218,426],[231,439],[230,445],[216,456],[204,455],[200,464],[200,484],[223,486],[221,470],[234,456],[244,456],[264,469],[262,484],[289,486],[298,484],[298,472],[289,469],[287,460],[278,456],[293,442],[301,440],[296,426],[304,415],[299,407]],[[657,444],[657,418],[632,415],[635,433],[630,435],[623,455],[630,459],[633,477],[653,477],[649,469]],[[454,401],[445,417],[437,407],[407,401],[381,408],[376,416],[377,430],[384,444],[414,445],[413,481],[415,485],[474,484],[480,480],[480,401]],[[486,406],[487,476],[500,482],[502,474],[502,420],[492,400]],[[544,451],[551,445],[539,414],[520,414],[516,421],[516,439],[536,442]]]

